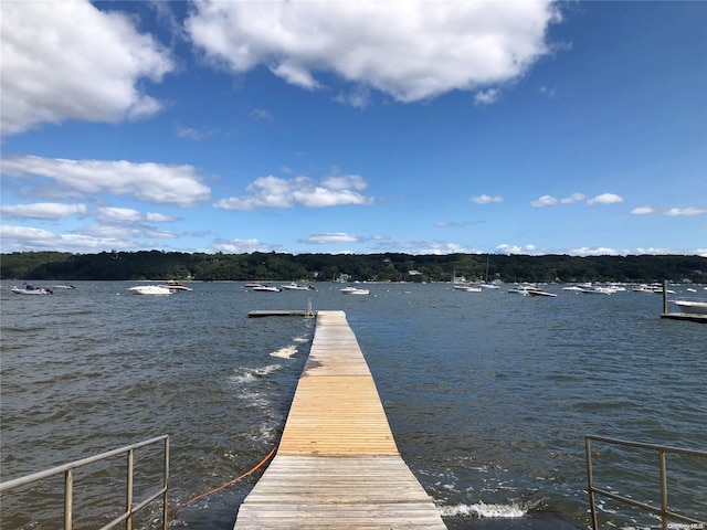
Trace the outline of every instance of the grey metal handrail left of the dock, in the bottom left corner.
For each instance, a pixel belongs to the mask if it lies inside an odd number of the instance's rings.
[[[133,475],[134,475],[134,462],[135,462],[135,449],[139,449],[140,447],[145,447],[147,445],[152,445],[159,442],[165,443],[165,458],[163,458],[163,467],[162,467],[162,487],[150,495],[146,499],[141,500],[137,505],[133,505]],[[167,530],[167,491],[169,489],[169,435],[163,434],[161,436],[157,436],[155,438],[146,439],[144,442],[138,442],[137,444],[126,445],[125,447],[120,447],[118,449],[108,451],[106,453],[102,453],[96,456],[89,456],[88,458],[83,458],[81,460],[71,462],[68,464],[64,464],[62,466],[56,466],[51,469],[46,469],[44,471],[34,473],[32,475],[27,475],[24,477],[15,478],[13,480],[7,480],[4,483],[0,483],[0,494],[3,491],[8,491],[10,489],[25,486],[28,484],[36,483],[44,478],[53,477],[56,475],[64,475],[64,530],[72,530],[73,524],[73,495],[74,495],[74,469],[86,466],[88,464],[94,464],[96,462],[104,460],[106,458],[110,458],[113,456],[122,455],[127,453],[127,474],[126,474],[126,502],[125,502],[125,512],[119,517],[115,518],[113,521],[108,522],[106,526],[102,527],[101,530],[108,530],[110,528],[115,528],[118,523],[125,521],[125,529],[131,530],[133,528],[133,515],[145,508],[147,505],[156,500],[157,498],[162,498],[162,530]]]

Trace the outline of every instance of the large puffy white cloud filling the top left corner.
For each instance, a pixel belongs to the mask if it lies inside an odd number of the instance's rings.
[[[67,119],[140,119],[162,104],[144,93],[173,68],[168,52],[117,12],[88,1],[0,3],[3,135]]]

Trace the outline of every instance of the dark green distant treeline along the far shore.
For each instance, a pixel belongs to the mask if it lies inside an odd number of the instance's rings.
[[[450,282],[455,274],[468,280],[648,283],[668,279],[707,283],[707,258],[674,255],[189,254],[162,251],[0,254],[2,279]]]

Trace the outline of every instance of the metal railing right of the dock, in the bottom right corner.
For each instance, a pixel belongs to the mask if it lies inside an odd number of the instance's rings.
[[[602,442],[606,444],[621,445],[624,447],[640,448],[640,449],[648,449],[655,451],[658,457],[658,466],[659,466],[659,477],[661,477],[661,507],[655,507],[647,505],[645,502],[640,502],[637,500],[631,499],[629,497],[624,497],[618,495],[612,491],[608,491],[602,488],[598,488],[594,486],[593,479],[593,469],[592,469],[592,451],[591,451],[591,442]],[[625,505],[633,506],[648,513],[654,513],[661,517],[661,524],[663,530],[667,530],[669,528],[669,521],[675,520],[684,523],[690,524],[690,528],[707,530],[707,522],[700,521],[698,519],[694,519],[692,517],[687,517],[682,513],[677,513],[672,511],[668,508],[667,504],[667,469],[666,469],[666,454],[675,454],[675,455],[685,455],[685,456],[694,456],[697,458],[707,458],[707,452],[705,451],[692,451],[692,449],[680,449],[677,447],[666,447],[662,445],[653,445],[653,444],[644,444],[640,442],[626,442],[623,439],[608,438],[603,436],[584,436],[584,452],[587,454],[587,479],[589,485],[589,504],[591,508],[592,515],[592,529],[599,530],[599,523],[597,520],[597,501],[595,496],[601,495],[603,497],[609,497],[610,499],[616,500],[619,502],[623,502]]]

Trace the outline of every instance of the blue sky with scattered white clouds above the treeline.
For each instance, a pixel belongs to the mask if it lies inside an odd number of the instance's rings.
[[[0,10],[2,252],[707,256],[707,2]]]

